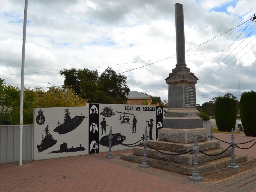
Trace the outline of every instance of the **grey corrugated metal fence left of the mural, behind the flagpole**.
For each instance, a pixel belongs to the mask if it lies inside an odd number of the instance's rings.
[[[22,160],[33,158],[33,125],[23,125]],[[0,126],[0,163],[19,161],[20,125]]]

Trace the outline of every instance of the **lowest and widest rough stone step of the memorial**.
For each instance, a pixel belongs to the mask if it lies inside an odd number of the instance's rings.
[[[133,155],[132,153],[122,154],[121,159],[132,161],[138,164],[142,164],[142,161],[143,161],[142,156]],[[239,154],[235,155],[236,164],[242,163],[245,161],[247,161],[247,155],[239,155]],[[148,157],[147,157],[147,163],[152,167],[164,169],[171,172],[181,173],[181,174],[192,175],[194,172],[194,165],[184,165],[179,163],[173,163],[170,161],[152,159]],[[231,163],[231,156],[215,159],[215,160],[204,162],[204,163],[198,163],[198,173],[201,176],[205,173],[225,168],[230,163]]]

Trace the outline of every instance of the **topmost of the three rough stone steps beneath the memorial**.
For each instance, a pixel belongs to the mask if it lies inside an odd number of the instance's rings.
[[[190,151],[194,147],[194,143],[173,143],[159,140],[150,140],[148,144],[153,148],[164,151],[172,151],[177,153],[183,153],[186,151]],[[202,141],[198,143],[198,147],[201,151],[207,151],[212,149],[220,148],[220,141],[216,140],[208,140]],[[194,153],[194,152],[190,152]]]

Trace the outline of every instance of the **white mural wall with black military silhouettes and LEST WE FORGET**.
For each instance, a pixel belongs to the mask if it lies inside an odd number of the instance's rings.
[[[34,160],[108,151],[139,141],[147,126],[150,140],[162,128],[162,106],[87,104],[86,107],[34,109]]]

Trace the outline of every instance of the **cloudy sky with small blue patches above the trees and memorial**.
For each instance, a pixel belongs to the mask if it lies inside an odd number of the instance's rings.
[[[0,77],[19,87],[24,3],[0,0]],[[249,0],[28,0],[24,86],[63,85],[63,68],[102,73],[110,66],[127,76],[131,91],[167,100],[164,79],[176,65],[175,3],[184,6],[197,103],[256,90],[256,3]]]

